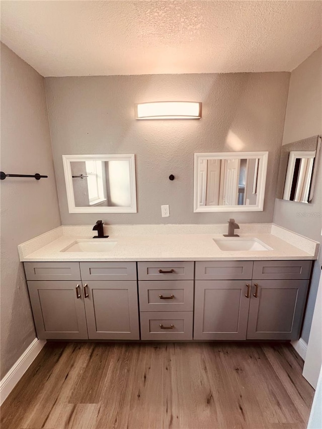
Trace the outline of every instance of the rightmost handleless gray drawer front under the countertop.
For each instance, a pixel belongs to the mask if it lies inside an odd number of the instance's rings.
[[[253,279],[309,279],[312,261],[255,261]]]

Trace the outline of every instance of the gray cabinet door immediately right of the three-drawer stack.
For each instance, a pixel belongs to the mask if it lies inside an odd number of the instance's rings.
[[[246,339],[250,292],[251,280],[197,280],[194,339]]]

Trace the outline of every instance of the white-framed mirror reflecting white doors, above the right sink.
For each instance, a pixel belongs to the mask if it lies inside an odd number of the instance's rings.
[[[268,152],[195,153],[194,212],[262,211]]]

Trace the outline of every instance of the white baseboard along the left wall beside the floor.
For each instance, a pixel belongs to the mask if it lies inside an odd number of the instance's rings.
[[[35,338],[28,349],[20,356],[15,365],[0,381],[0,405],[2,405],[7,399],[10,392],[36,359],[45,344],[46,340]]]

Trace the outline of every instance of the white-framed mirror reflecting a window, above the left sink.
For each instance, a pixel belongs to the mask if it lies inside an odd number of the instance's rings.
[[[69,213],[136,213],[134,155],[62,155]]]

